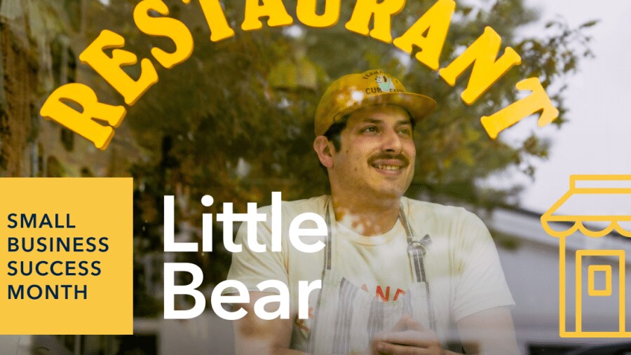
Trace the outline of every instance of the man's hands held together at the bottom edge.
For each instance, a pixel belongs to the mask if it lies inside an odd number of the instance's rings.
[[[404,314],[391,330],[375,335],[371,354],[442,355],[444,351],[432,330]]]

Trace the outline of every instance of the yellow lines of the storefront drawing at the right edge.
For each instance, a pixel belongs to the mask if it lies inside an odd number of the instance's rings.
[[[625,329],[625,251],[624,250],[578,250],[576,251],[576,330],[566,330],[566,288],[565,288],[565,266],[566,266],[566,249],[565,238],[577,231],[588,237],[603,237],[613,230],[625,237],[631,237],[631,231],[620,227],[620,222],[631,221],[631,216],[594,216],[594,215],[560,215],[552,216],[559,207],[564,204],[569,197],[575,194],[631,194],[631,188],[579,188],[576,186],[578,181],[627,181],[631,183],[631,175],[571,175],[569,190],[555,204],[545,211],[541,216],[541,225],[545,232],[552,237],[559,238],[559,336],[561,337],[631,337],[631,332]],[[631,186],[631,184],[630,184]],[[609,222],[609,225],[602,230],[590,230],[585,227],[585,222]],[[565,222],[574,223],[570,228],[562,231],[553,230],[548,223]],[[582,258],[585,256],[617,256],[619,263],[618,282],[618,331],[583,331],[582,323]],[[596,271],[604,271],[606,274],[606,286],[604,290],[596,290],[594,288],[593,273]],[[590,265],[588,267],[588,294],[590,296],[607,296],[611,295],[611,266],[610,265]]]

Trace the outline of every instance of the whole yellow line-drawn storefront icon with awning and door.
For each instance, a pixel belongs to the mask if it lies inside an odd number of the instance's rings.
[[[624,249],[581,249],[576,250],[574,260],[566,260],[566,237],[598,238],[617,232],[623,237],[631,237],[631,203],[627,208],[619,202],[631,201],[631,175],[572,175],[569,190],[541,216],[541,224],[548,235],[559,238],[559,335],[561,337],[631,337],[626,329],[625,308],[625,250]],[[593,201],[604,201],[599,209]],[[580,213],[562,214],[562,206],[567,204],[582,206]],[[616,204],[618,202],[618,204]],[[588,210],[585,210],[588,208]],[[560,227],[560,228],[559,228]],[[582,235],[581,235],[582,234]],[[573,237],[574,238],[574,237]],[[631,240],[630,240],[631,242]],[[588,261],[585,261],[588,260]],[[602,265],[588,265],[593,260],[609,260]],[[571,263],[575,270],[571,270]],[[613,263],[613,269],[612,265]],[[570,267],[568,268],[568,265]],[[587,272],[583,270],[588,265]],[[574,280],[567,279],[574,272]],[[616,277],[617,274],[617,277]],[[587,278],[587,290],[584,280]],[[597,282],[597,279],[602,282]],[[566,284],[574,281],[574,289]],[[567,289],[566,289],[567,288]],[[614,292],[616,290],[617,292]],[[586,292],[585,292],[586,291]],[[574,292],[574,328],[567,324],[566,302]],[[617,330],[583,330],[585,300],[587,298],[616,302],[618,305]],[[571,305],[570,305],[571,307]]]

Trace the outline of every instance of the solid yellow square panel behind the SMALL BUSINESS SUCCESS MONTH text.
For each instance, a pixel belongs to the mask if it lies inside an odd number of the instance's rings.
[[[0,334],[133,333],[133,179],[0,179],[0,196]]]

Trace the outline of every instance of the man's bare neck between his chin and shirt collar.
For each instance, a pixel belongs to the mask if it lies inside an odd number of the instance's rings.
[[[400,197],[363,199],[332,193],[332,202],[336,221],[367,237],[388,232],[399,216]]]

